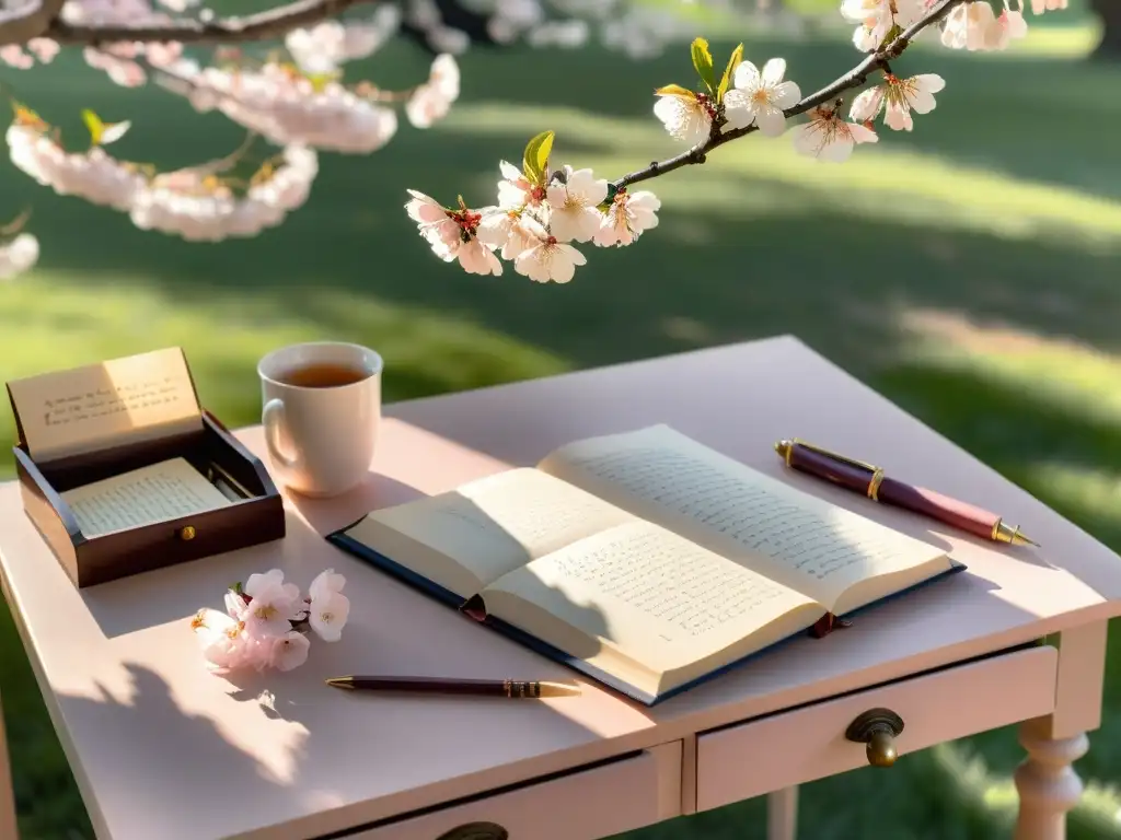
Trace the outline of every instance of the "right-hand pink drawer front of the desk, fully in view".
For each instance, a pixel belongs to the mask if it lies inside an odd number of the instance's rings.
[[[902,719],[899,756],[1047,715],[1057,668],[1054,647],[1031,647],[700,735],[697,811],[868,766],[845,730],[871,709]]]

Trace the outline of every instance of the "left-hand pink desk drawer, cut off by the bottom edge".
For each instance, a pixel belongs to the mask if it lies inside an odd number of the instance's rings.
[[[682,744],[674,741],[583,771],[438,808],[346,840],[595,840],[682,813]],[[492,823],[487,833],[472,823]]]

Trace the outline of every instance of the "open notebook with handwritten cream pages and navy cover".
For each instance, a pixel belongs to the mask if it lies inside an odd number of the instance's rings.
[[[666,426],[568,444],[327,539],[646,704],[964,568]]]

